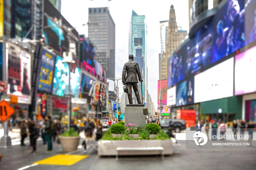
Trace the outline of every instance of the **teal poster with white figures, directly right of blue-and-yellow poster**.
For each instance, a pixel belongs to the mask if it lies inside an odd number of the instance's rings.
[[[67,63],[62,63],[63,58],[57,55],[52,94],[64,96],[68,94],[69,68]]]

